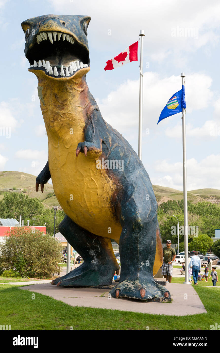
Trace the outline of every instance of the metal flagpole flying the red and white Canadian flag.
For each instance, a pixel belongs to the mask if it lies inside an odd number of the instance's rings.
[[[139,90],[139,128],[138,128],[138,156],[142,160],[142,107],[143,107],[143,37],[144,31],[140,30],[141,53],[140,53],[140,90]]]

